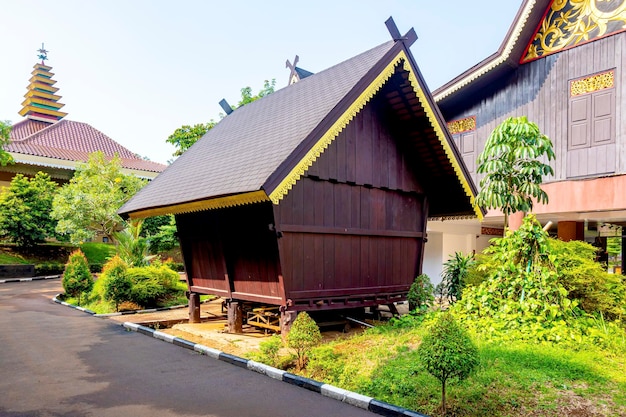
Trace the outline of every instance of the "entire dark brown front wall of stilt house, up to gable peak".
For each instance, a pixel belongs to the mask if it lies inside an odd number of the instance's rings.
[[[408,289],[420,270],[424,197],[367,105],[275,206],[286,296]]]

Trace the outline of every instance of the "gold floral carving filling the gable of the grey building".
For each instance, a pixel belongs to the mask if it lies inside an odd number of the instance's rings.
[[[624,0],[555,0],[521,63],[624,30]]]

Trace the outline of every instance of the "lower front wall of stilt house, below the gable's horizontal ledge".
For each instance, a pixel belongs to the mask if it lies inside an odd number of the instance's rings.
[[[288,298],[410,286],[425,228],[421,195],[308,177],[295,187],[312,203],[301,208],[312,221],[283,222],[294,219],[299,193],[274,208]]]

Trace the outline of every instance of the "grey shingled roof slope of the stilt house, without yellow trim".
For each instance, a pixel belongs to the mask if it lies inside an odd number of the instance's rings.
[[[121,212],[260,190],[393,46],[386,42],[235,110]]]

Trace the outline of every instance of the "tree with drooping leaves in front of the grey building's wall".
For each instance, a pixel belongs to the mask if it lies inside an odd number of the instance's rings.
[[[506,230],[510,214],[532,211],[533,198],[548,202],[541,183],[554,171],[543,160],[554,158],[552,141],[535,123],[525,116],[509,117],[494,129],[478,156],[477,172],[485,177],[480,180],[476,204],[501,209]]]

